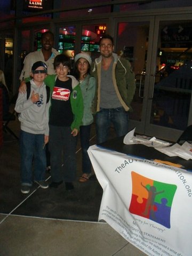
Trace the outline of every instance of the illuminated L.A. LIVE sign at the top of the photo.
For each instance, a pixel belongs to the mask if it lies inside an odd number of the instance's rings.
[[[24,0],[23,1],[23,10],[24,11],[46,11],[53,9],[53,1],[52,0]]]

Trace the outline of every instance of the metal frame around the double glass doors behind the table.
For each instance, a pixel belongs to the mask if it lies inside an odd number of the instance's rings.
[[[177,129],[172,129],[170,127],[159,126],[155,124],[150,124],[151,117],[151,107],[152,98],[154,90],[154,75],[156,73],[156,56],[158,50],[158,36],[159,36],[159,25],[161,21],[189,21],[192,20],[191,14],[169,14],[169,15],[142,15],[141,17],[127,17],[127,18],[116,18],[115,25],[117,33],[114,38],[114,42],[117,42],[118,35],[118,23],[121,22],[143,22],[149,21],[149,40],[148,40],[148,51],[147,51],[147,61],[146,61],[146,75],[145,75],[145,85],[143,93],[142,102],[142,113],[141,121],[134,121],[130,119],[130,129],[136,127],[135,132],[140,134],[145,134],[150,137],[162,138],[170,141],[177,141],[180,137],[182,131]],[[192,98],[192,97],[191,97]],[[192,123],[192,99],[189,110],[188,125]],[[133,109],[134,111],[134,109]]]

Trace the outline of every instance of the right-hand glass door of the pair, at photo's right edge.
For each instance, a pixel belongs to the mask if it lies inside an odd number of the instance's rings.
[[[156,19],[145,131],[177,141],[191,124],[192,26],[174,18]]]

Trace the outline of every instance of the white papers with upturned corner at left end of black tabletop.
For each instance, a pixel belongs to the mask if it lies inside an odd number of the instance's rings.
[[[127,145],[143,144],[148,147],[154,147],[154,148],[158,148],[158,147],[162,148],[162,147],[171,145],[171,143],[163,141],[163,140],[158,140],[155,137],[151,138],[151,137],[147,137],[145,135],[134,136],[134,131],[135,131],[135,128],[125,135],[124,140],[123,140],[124,144],[127,144]]]

